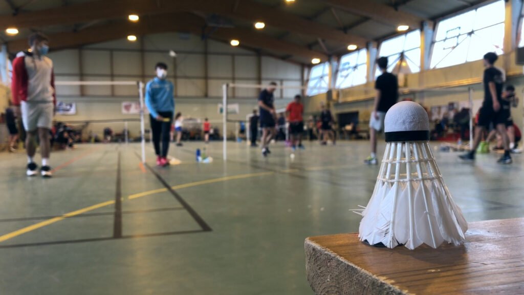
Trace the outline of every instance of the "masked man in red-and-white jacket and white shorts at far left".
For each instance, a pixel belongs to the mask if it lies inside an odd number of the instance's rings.
[[[13,61],[11,91],[13,104],[20,107],[24,129],[27,131],[27,176],[35,176],[35,139],[40,139],[42,167],[40,174],[51,177],[49,154],[51,152],[50,130],[52,128],[56,95],[54,92],[53,62],[46,57],[49,39],[41,33],[29,36],[30,52]]]

